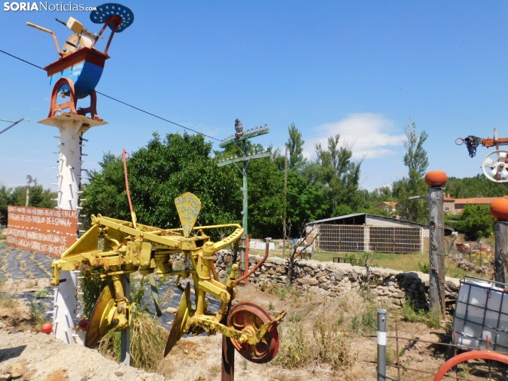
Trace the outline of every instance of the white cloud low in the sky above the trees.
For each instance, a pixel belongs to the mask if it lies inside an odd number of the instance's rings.
[[[351,114],[339,122],[322,124],[316,128],[317,138],[305,139],[305,156],[314,155],[314,146],[327,146],[327,138],[340,134],[341,144],[353,145],[354,159],[374,159],[396,154],[386,147],[402,146],[406,135],[390,134],[393,122],[380,114]]]

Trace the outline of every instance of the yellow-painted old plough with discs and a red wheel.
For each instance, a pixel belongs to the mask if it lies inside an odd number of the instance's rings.
[[[240,302],[231,307],[231,301],[235,298],[233,289],[242,279],[235,279],[238,264],[233,264],[226,285],[218,281],[213,265],[213,254],[240,240],[243,228],[236,224],[195,227],[201,202],[191,193],[177,197],[175,204],[182,226],[177,229],[163,230],[141,225],[135,222],[135,218],[132,222],[126,222],[92,215],[90,230],[51,265],[51,284],[54,286],[60,283],[60,271],[65,270],[83,270],[85,277],[112,279],[92,311],[85,345],[94,348],[107,331],[128,328],[130,305],[122,286],[122,277],[137,271],[143,275],[157,274],[158,277],[176,276],[176,286],[183,289],[180,280],[191,275],[196,307],[192,308],[189,281],[181,296],[164,355],[185,333],[196,335],[206,332],[222,333],[231,338],[240,355],[250,361],[266,363],[272,360],[279,348],[277,326],[286,312],[282,311],[272,318],[263,308],[250,302]],[[233,232],[223,240],[212,242],[207,232],[216,229],[230,229]],[[104,249],[98,248],[99,240],[103,240]],[[173,269],[171,254],[179,252],[184,258],[190,259],[190,268]],[[102,272],[92,272],[92,269],[102,269]],[[206,294],[221,301],[217,313],[208,311]]]

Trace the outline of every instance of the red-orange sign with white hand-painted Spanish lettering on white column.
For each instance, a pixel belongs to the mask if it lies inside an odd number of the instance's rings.
[[[76,242],[76,210],[7,207],[7,245],[56,257]]]

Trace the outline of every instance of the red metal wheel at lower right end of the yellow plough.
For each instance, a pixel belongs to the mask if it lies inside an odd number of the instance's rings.
[[[240,301],[240,303],[231,307],[228,314],[228,327],[251,335],[255,335],[260,326],[268,321],[272,321],[270,314],[250,301]],[[279,332],[274,324],[257,345],[240,344],[234,338],[231,338],[231,343],[238,350],[238,353],[247,360],[253,363],[268,363],[275,358],[279,351]]]

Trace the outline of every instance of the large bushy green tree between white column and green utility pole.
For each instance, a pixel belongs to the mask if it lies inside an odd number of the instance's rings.
[[[162,228],[180,225],[174,199],[194,193],[202,203],[196,225],[240,222],[241,193],[233,168],[217,166],[211,143],[201,135],[155,133],[127,161],[129,189],[140,223]],[[130,220],[122,159],[105,154],[100,171],[88,173],[83,212]]]

